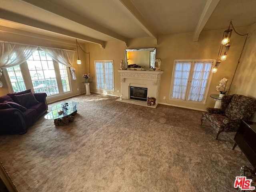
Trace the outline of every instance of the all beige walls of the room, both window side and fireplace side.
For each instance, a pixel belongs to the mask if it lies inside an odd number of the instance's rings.
[[[218,82],[223,77],[228,78],[227,87],[230,87],[231,79],[233,78],[234,71],[236,69],[236,64],[238,63],[238,58],[240,56],[240,52],[242,50],[242,46],[244,43],[244,36],[238,36],[234,32],[232,33],[231,42],[230,42],[230,50],[228,51],[228,58],[226,61],[222,62],[218,72],[213,74],[212,81],[210,84],[209,94],[206,98],[206,105],[198,105],[198,104],[188,104],[182,102],[174,102],[170,101],[167,98],[170,94],[170,83],[172,77],[172,69],[175,59],[216,59],[218,55],[218,51],[220,48],[220,41],[222,39],[222,35],[225,29],[223,30],[212,30],[212,31],[204,31],[200,35],[198,42],[193,42],[193,34],[192,33],[184,33],[184,34],[172,34],[166,36],[160,36],[158,39],[158,45],[154,45],[154,40],[152,38],[137,38],[131,39],[128,41],[127,45],[124,42],[120,41],[111,41],[107,42],[106,48],[100,48],[97,44],[87,43],[81,44],[83,48],[85,48],[86,52],[90,52],[89,54],[85,54],[82,50],[79,50],[80,60],[82,60],[82,64],[76,64],[77,54],[74,56],[74,67],[76,68],[77,80],[71,80],[72,84],[72,93],[61,96],[70,97],[77,94],[81,94],[85,92],[85,86],[82,84],[84,78],[82,78],[82,74],[89,73],[91,74],[90,80],[92,83],[90,84],[90,90],[92,92],[103,93],[101,90],[96,89],[95,84],[95,70],[94,70],[94,60],[114,60],[114,86],[115,90],[113,92],[107,92],[107,94],[118,96],[120,95],[121,86],[120,86],[120,75],[118,73],[120,61],[124,60],[124,50],[125,49],[133,49],[133,48],[150,48],[156,47],[156,58],[162,59],[162,70],[164,73],[162,74],[162,80],[160,84],[160,93],[159,93],[159,102],[162,104],[170,104],[174,106],[192,108],[197,110],[205,110],[206,107],[213,107],[214,100],[210,98],[210,94],[218,94],[215,90]],[[248,28],[238,28],[240,33],[248,32]],[[253,54],[256,42],[255,35],[256,26],[252,26],[250,38],[248,39],[248,45],[246,46],[245,52],[249,57],[244,59],[244,62],[240,63],[240,67],[238,68],[236,78],[234,79],[234,83],[230,90],[229,94],[241,94],[244,93],[248,96],[256,97],[255,89],[252,88],[253,83],[255,81],[255,68],[253,68],[255,55]],[[1,40],[10,41],[10,42],[19,42],[25,44],[32,44],[38,46],[47,46],[54,48],[64,48],[64,49],[76,49],[75,40],[74,42],[49,38],[42,36],[40,38],[31,38],[27,36],[20,36],[16,34],[7,34],[0,32]],[[245,58],[245,57],[244,57]],[[90,60],[90,65],[89,65]],[[245,64],[247,63],[247,64]],[[253,76],[254,75],[254,76]],[[0,89],[0,96],[9,92],[7,89],[6,82],[4,80],[4,75],[1,80],[4,83],[4,88]],[[80,88],[78,91],[77,88]],[[119,93],[117,92],[119,90]],[[163,97],[166,97],[166,100]],[[52,102],[54,99],[49,100]]]

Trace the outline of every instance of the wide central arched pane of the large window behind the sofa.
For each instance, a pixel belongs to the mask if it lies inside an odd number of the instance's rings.
[[[47,95],[58,94],[59,90],[52,58],[48,58],[43,51],[35,51],[32,56],[27,60],[27,63],[34,91],[36,93],[46,92]],[[49,69],[49,66],[51,69]]]

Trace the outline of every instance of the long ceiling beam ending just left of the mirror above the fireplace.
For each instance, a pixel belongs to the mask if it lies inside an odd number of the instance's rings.
[[[78,24],[81,24],[83,26],[86,26],[90,29],[93,29],[93,30],[96,30],[102,34],[105,34],[105,35],[108,35],[112,38],[115,38],[116,40],[121,40],[121,41],[124,41],[126,42],[127,41],[127,38],[120,35],[120,34],[117,34],[116,32],[104,27],[104,26],[101,26],[87,18],[84,18],[82,16],[78,16],[76,14],[74,14],[73,12],[70,12],[69,10],[61,7],[61,6],[58,6],[54,3],[52,3],[52,1],[47,1],[47,3],[43,0],[40,0],[40,1],[35,1],[35,0],[22,0],[24,2],[27,2],[29,4],[32,4],[34,6],[37,6],[39,8],[42,8],[44,10],[47,10],[51,13],[54,13],[58,16],[61,16],[61,17],[64,17],[68,20],[71,20],[73,22],[76,22]],[[54,2],[54,1],[53,1]]]

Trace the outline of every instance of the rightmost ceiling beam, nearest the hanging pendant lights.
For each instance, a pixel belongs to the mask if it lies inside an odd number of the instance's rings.
[[[214,11],[214,9],[216,8],[219,2],[220,0],[208,0],[206,2],[206,5],[204,6],[204,10],[196,26],[193,41],[198,41],[200,33],[202,32],[206,22],[209,20],[210,16],[212,15],[212,12]]]

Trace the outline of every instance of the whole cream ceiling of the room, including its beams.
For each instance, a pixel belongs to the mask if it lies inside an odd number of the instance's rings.
[[[0,30],[94,42],[256,23],[255,0],[0,0]]]

